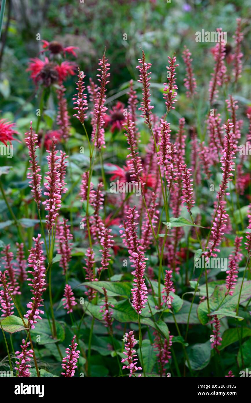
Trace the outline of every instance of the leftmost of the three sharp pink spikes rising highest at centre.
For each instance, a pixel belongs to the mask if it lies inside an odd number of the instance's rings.
[[[105,58],[105,53],[103,54],[103,58],[99,59],[99,66],[101,69],[100,74],[97,74],[99,81],[99,90],[97,92],[97,96],[94,104],[93,111],[93,132],[92,132],[92,141],[94,141],[95,147],[97,148],[105,148],[105,120],[104,114],[107,110],[105,106],[105,93],[106,93],[106,85],[109,83],[107,79],[110,77],[110,73],[108,73],[110,64],[107,63],[108,59]]]

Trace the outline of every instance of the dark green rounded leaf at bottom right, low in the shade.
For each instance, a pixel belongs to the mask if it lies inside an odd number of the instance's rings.
[[[194,371],[199,371],[205,368],[210,362],[211,356],[211,343],[207,341],[206,343],[194,344],[188,347],[187,354],[189,357],[191,369]],[[188,367],[187,361],[186,366]]]

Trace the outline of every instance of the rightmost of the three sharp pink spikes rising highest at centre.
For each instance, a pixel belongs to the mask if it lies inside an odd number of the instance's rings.
[[[164,83],[164,93],[163,98],[165,99],[165,104],[167,106],[167,113],[170,112],[171,109],[175,109],[173,106],[175,102],[177,102],[177,99],[175,99],[178,95],[177,93],[177,84],[176,84],[176,67],[179,66],[179,64],[176,63],[176,56],[173,55],[172,57],[168,56],[168,62],[169,66],[167,66],[167,79],[168,83]]]

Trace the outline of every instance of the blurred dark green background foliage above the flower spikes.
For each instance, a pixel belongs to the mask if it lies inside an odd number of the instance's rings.
[[[231,45],[237,17],[243,19],[245,33],[243,77],[239,84],[245,112],[246,104],[250,102],[251,83],[249,0],[171,0],[170,3],[165,0],[8,0],[1,44],[4,49],[0,52],[0,110],[4,117],[17,121],[21,131],[29,120],[34,120],[39,93],[26,69],[29,58],[39,56],[42,42],[37,40],[37,33],[40,33],[41,39],[79,47],[77,64],[86,74],[86,83],[88,77],[96,79],[98,59],[106,47],[111,63],[107,91],[109,107],[116,103],[121,91],[119,99],[126,103],[127,96],[123,93],[128,81],[138,79],[136,65],[141,57],[141,46],[146,60],[152,63],[151,93],[154,112],[158,115],[165,110],[162,83],[166,81],[167,56],[176,52],[180,64],[177,71],[179,106],[171,118],[177,124],[181,116],[179,111],[186,109],[185,118],[189,121],[191,110],[187,108],[183,87],[183,46],[185,44],[192,53],[198,99],[203,106],[208,98],[208,82],[214,63],[210,52],[213,44],[195,42],[195,32],[215,31],[222,27],[227,31],[227,42]],[[123,40],[124,34],[127,40]],[[72,108],[74,81],[74,77],[70,77],[65,84],[69,108]],[[138,94],[141,97],[140,89]],[[71,123],[80,129],[76,119]]]

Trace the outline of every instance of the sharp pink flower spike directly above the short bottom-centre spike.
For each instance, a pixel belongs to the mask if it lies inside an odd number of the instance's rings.
[[[134,285],[131,289],[132,291],[132,306],[135,308],[136,312],[140,315],[142,309],[146,306],[147,302],[147,287],[145,284],[144,273],[146,268],[144,255],[142,253],[133,254],[133,266],[134,271]]]

